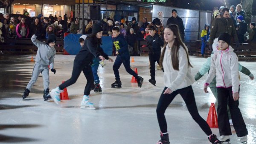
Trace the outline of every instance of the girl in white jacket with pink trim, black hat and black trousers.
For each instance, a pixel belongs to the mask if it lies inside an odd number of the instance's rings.
[[[238,57],[230,46],[230,34],[223,33],[218,37],[218,48],[214,52],[211,68],[204,84],[204,92],[208,93],[208,85],[216,76],[218,93],[218,127],[220,141],[230,141],[232,135],[227,114],[227,104],[230,107],[231,119],[236,134],[243,144],[247,144],[248,131],[239,109],[239,65]]]

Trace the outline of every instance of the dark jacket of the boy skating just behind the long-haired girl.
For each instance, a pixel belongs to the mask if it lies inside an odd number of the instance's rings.
[[[155,34],[153,37],[151,35],[146,37],[147,43],[148,43],[148,48],[149,54],[154,54],[154,53],[161,53],[161,46],[163,46],[164,42],[163,40],[159,37],[158,34]]]

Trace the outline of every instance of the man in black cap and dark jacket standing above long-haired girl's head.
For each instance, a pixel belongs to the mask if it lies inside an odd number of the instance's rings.
[[[178,16],[178,13],[176,11],[176,9],[173,9],[172,10],[172,17],[170,17],[168,20],[167,20],[167,23],[166,25],[169,25],[169,24],[176,24],[178,25],[179,27],[179,30],[180,30],[180,36],[181,36],[181,39],[184,41],[184,38],[185,38],[185,27],[183,25],[183,21],[182,19]]]

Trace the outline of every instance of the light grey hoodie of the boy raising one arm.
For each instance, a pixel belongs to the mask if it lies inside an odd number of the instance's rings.
[[[35,56],[35,62],[39,65],[53,68],[54,56],[56,54],[55,48],[50,47],[45,42],[41,42],[36,39],[35,34],[31,37],[31,41],[38,47],[38,51]]]

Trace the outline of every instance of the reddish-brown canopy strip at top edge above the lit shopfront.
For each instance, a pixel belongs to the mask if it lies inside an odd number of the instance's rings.
[[[75,5],[75,0],[14,0],[13,4]]]

